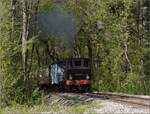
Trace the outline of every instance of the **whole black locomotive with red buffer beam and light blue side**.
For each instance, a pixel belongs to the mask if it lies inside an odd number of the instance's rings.
[[[70,58],[54,62],[49,67],[51,84],[65,91],[88,91],[91,79],[90,66],[87,58]]]

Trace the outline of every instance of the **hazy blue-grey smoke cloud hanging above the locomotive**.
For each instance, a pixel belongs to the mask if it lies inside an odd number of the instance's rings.
[[[77,34],[77,19],[63,8],[53,8],[38,15],[38,28],[42,33],[52,34],[71,46]]]

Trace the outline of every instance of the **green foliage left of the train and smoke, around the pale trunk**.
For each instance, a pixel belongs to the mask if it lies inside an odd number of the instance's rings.
[[[32,2],[31,2],[32,3]],[[31,6],[33,4],[30,4]],[[61,7],[52,1],[44,0],[39,3],[39,12],[47,12],[51,8]],[[16,1],[14,33],[12,35],[12,6],[9,0],[0,1],[0,101],[2,106],[14,104],[33,105],[40,103],[41,91],[38,89],[39,77],[44,76],[45,69],[53,61],[68,57],[69,51],[59,39],[52,35],[41,34],[36,30],[35,4],[29,8],[29,30],[27,45],[27,75],[28,82],[23,77],[22,66],[22,3]],[[38,10],[38,9],[37,9]],[[39,13],[38,12],[38,13]],[[34,22],[35,21],[35,22]],[[43,40],[44,39],[44,40]],[[46,39],[46,40],[45,40]],[[62,53],[63,52],[63,53]],[[26,95],[28,83],[29,97]]]

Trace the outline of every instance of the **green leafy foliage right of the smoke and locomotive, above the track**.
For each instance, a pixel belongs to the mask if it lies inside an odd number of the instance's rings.
[[[88,56],[88,40],[93,48],[93,90],[147,94],[149,87],[143,71],[148,59],[142,63],[146,55],[144,50],[147,50],[147,37],[140,40],[135,33],[139,26],[135,18],[137,13],[133,12],[136,1],[83,0],[76,3],[72,0],[68,4],[82,18],[76,41],[80,55]],[[102,29],[98,29],[98,21],[103,23]],[[143,32],[146,34],[146,31]],[[84,38],[83,42],[81,38]],[[137,80],[142,89],[135,83]]]

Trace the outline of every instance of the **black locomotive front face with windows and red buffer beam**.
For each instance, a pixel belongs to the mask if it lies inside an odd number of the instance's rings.
[[[74,58],[67,61],[67,90],[88,90],[90,84],[90,64],[88,59]]]

